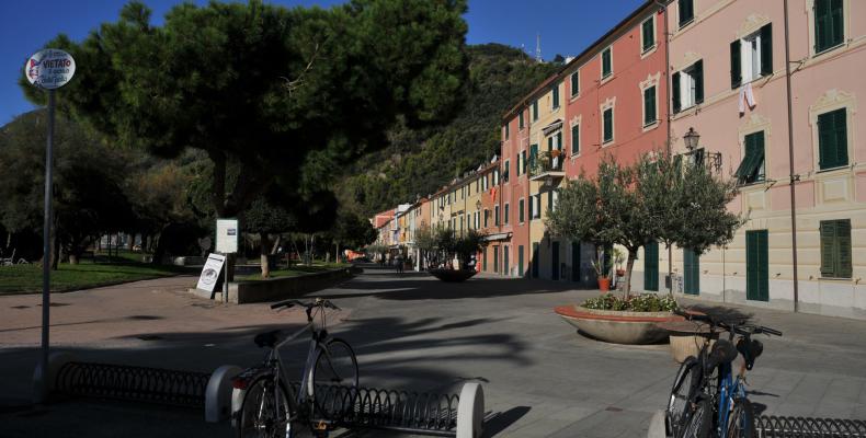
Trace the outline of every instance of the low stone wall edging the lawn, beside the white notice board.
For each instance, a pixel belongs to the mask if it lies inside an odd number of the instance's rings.
[[[277,301],[298,298],[309,292],[329,288],[352,278],[361,269],[346,267],[297,277],[273,278],[260,281],[229,283],[228,302]]]

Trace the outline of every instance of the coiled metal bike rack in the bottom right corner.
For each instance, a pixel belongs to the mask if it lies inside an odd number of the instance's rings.
[[[760,416],[760,438],[866,438],[866,422],[859,419]]]

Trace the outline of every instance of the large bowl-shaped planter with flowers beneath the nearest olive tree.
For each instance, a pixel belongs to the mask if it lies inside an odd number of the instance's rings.
[[[668,331],[657,324],[683,321],[672,312],[619,312],[581,306],[560,306],[555,311],[579,331],[614,344],[659,343],[668,337]]]

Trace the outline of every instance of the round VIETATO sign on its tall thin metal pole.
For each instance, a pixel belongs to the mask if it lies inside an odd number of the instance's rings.
[[[76,61],[64,50],[46,48],[35,53],[24,65],[24,76],[31,84],[48,90],[48,141],[45,149],[45,216],[42,227],[42,355],[37,370],[42,387],[36,394],[46,396],[48,374],[48,327],[50,323],[50,268],[52,268],[52,184],[54,180],[54,90],[66,85],[76,72]]]

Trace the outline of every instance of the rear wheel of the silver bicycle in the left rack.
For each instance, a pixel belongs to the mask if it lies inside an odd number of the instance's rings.
[[[273,376],[262,376],[253,381],[243,396],[238,437],[294,437],[297,434],[286,434],[286,426],[290,418],[292,411],[286,389],[282,382],[275,385]]]

